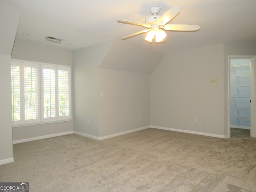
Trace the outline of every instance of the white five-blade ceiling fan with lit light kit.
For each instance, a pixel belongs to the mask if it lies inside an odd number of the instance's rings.
[[[145,24],[126,21],[126,20],[117,20],[119,23],[138,25],[145,28],[148,28],[143,31],[136,32],[134,34],[128,35],[122,40],[131,38],[133,36],[148,32],[145,40],[148,42],[152,42],[152,40],[156,37],[157,43],[162,43],[166,41],[166,33],[162,30],[167,31],[197,31],[200,29],[198,25],[185,25],[185,24],[167,24],[170,20],[172,20],[176,15],[180,13],[179,7],[172,7],[168,11],[166,11],[162,16],[157,15],[160,12],[160,7],[154,6],[150,8],[150,13],[153,16],[146,18]]]

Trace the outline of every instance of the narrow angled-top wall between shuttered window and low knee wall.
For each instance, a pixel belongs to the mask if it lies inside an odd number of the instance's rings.
[[[75,50],[73,56],[74,131],[99,136],[98,67],[111,41]],[[89,120],[90,125],[87,125]]]

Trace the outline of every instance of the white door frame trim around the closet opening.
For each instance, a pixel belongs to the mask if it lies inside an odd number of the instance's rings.
[[[256,56],[251,55],[229,55],[228,56],[228,138],[230,138],[230,59],[250,59],[250,97],[251,97],[251,106],[250,106],[250,136],[256,138]]]

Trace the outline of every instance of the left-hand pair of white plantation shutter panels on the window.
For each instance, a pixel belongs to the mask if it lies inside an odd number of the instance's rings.
[[[12,124],[40,122],[39,64],[13,61],[11,65]]]

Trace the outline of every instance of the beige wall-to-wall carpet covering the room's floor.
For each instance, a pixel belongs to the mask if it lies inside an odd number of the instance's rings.
[[[70,134],[15,144],[0,182],[29,182],[30,192],[255,192],[256,138],[153,128],[102,141]]]

